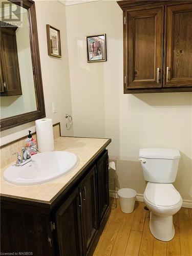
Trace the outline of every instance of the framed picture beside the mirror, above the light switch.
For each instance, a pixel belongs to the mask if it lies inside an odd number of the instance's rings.
[[[50,25],[46,25],[47,28],[47,48],[48,55],[61,57],[60,48],[60,31]]]

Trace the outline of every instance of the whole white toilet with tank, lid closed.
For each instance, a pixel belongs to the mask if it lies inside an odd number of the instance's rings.
[[[173,215],[182,198],[172,184],[177,176],[180,153],[171,148],[141,148],[139,160],[147,181],[144,203],[150,210],[150,230],[155,238],[170,241],[175,236]]]

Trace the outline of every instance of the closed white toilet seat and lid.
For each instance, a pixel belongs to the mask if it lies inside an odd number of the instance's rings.
[[[174,208],[181,204],[182,198],[171,183],[148,182],[144,199],[154,207]]]

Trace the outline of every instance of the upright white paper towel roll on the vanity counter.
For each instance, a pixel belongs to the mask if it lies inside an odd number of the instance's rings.
[[[42,118],[35,121],[38,150],[47,152],[54,150],[52,119]]]

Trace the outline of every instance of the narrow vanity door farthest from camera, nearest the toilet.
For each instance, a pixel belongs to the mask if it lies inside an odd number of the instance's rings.
[[[97,190],[99,226],[109,209],[108,151],[97,162]]]

